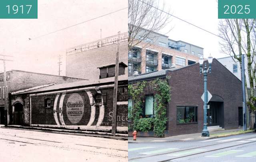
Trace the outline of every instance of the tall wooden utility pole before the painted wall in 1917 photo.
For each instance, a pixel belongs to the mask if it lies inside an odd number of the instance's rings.
[[[117,90],[118,90],[119,46],[120,46],[120,31],[118,32],[117,52],[116,52],[116,72],[115,72],[113,120],[112,120],[112,135],[113,136],[116,135],[116,103],[117,103]]]

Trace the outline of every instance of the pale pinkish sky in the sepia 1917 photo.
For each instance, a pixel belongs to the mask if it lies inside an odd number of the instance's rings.
[[[38,0],[38,19],[0,19],[0,55],[13,56],[6,57],[13,60],[6,62],[6,69],[58,75],[62,55],[60,74],[65,75],[66,49],[100,39],[100,29],[102,38],[127,32],[128,9],[38,36],[126,7],[127,0]]]

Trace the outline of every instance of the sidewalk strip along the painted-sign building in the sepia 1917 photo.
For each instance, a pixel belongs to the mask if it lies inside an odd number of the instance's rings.
[[[118,139],[118,140],[127,140],[127,134],[116,133],[116,136],[112,136],[111,133],[99,132],[99,131],[78,131],[78,130],[69,130],[69,129],[54,129],[54,128],[44,128],[44,127],[26,127],[21,125],[0,125],[0,128],[3,129],[23,129],[29,131],[41,131],[48,133],[58,133],[58,134],[68,134],[68,135],[80,135],[80,136],[89,136],[89,137],[101,137],[108,139]]]

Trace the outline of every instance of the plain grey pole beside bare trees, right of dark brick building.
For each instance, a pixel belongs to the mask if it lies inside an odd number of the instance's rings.
[[[246,121],[246,99],[245,99],[245,76],[244,76],[244,54],[242,54],[242,91],[243,91],[243,130],[247,130],[247,121]]]

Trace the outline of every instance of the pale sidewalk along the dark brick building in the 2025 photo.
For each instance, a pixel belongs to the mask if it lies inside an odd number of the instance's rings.
[[[222,131],[212,131],[210,132],[210,137],[201,137],[201,133],[194,133],[194,134],[188,134],[188,135],[178,135],[178,136],[172,136],[172,137],[164,137],[164,138],[157,138],[157,137],[138,137],[137,140],[133,141],[133,137],[128,137],[128,143],[152,143],[152,142],[170,142],[170,141],[189,141],[189,140],[206,140],[206,139],[212,139],[212,138],[218,138],[218,137],[224,137],[224,136],[230,136],[231,133],[237,134],[244,134],[242,133],[243,129],[229,129],[229,130],[222,130]],[[252,131],[247,131],[246,133],[251,133]],[[219,135],[220,134],[220,135]]]

